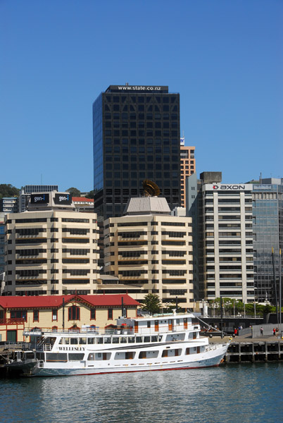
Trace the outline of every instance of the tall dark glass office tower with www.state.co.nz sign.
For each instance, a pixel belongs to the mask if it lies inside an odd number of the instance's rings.
[[[153,180],[180,205],[180,94],[163,86],[110,85],[93,105],[95,212],[122,216]]]

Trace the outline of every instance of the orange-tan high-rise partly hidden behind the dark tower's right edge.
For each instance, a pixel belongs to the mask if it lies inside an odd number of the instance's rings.
[[[187,147],[181,138],[181,151],[180,151],[180,180],[181,180],[181,207],[186,207],[186,178],[196,172],[196,159],[194,151],[196,147]]]

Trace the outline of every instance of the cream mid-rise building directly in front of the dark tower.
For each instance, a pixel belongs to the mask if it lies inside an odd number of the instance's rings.
[[[124,216],[104,221],[105,273],[136,300],[156,293],[193,307],[191,250],[191,218],[171,216],[165,198],[132,198]]]

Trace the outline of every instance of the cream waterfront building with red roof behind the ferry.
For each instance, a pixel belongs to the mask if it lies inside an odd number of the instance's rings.
[[[127,294],[0,297],[0,340],[23,341],[24,328],[104,327],[122,315],[122,302],[124,314],[136,317],[139,302]]]

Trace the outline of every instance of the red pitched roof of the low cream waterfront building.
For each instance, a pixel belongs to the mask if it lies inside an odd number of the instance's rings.
[[[113,295],[40,295],[40,296],[5,296],[0,297],[0,306],[6,308],[57,308],[63,304],[75,300],[77,302],[88,302],[94,307],[115,307],[122,305],[122,298],[124,305],[137,306],[139,302],[134,300],[127,294],[113,294]]]

